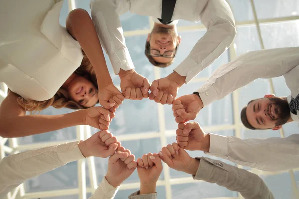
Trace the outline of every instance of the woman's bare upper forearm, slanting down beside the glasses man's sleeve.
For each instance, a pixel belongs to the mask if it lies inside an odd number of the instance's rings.
[[[90,60],[97,77],[98,87],[112,83],[101,43],[94,24],[85,10],[74,10],[68,16],[68,27]]]

